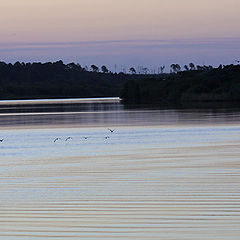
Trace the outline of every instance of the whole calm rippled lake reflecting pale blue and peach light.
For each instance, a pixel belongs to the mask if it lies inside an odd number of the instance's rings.
[[[0,239],[240,238],[238,107],[1,101],[0,139]]]

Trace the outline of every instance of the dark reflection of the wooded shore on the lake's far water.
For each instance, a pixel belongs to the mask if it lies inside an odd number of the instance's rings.
[[[125,106],[119,99],[0,103],[0,126],[129,126],[228,124],[240,121],[240,108],[227,104]]]

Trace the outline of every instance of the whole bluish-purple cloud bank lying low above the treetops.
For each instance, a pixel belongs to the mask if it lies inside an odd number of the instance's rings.
[[[190,61],[196,64],[233,63],[240,56],[239,38],[172,40],[116,40],[74,42],[0,43],[4,61],[79,62],[81,65],[114,64],[127,66],[169,65]]]

